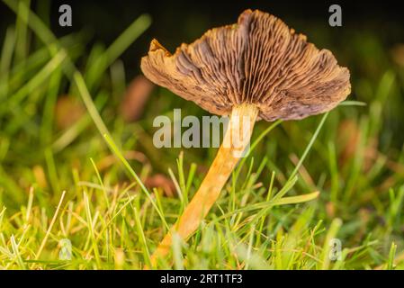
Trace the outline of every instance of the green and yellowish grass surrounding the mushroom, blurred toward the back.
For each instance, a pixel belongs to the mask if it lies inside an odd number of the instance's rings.
[[[57,39],[29,1],[4,3],[16,22],[0,55],[0,268],[141,269],[215,153],[155,148],[152,121],[174,108],[205,112],[157,88],[139,121],[123,120],[119,58],[148,29],[148,15],[109,47],[89,48],[83,33]],[[355,37],[353,45],[370,36]],[[364,43],[388,53],[373,38]],[[404,123],[404,68],[386,60],[367,73],[368,63],[353,60],[365,72],[353,75],[352,98],[335,111],[258,123],[220,201],[187,243],[175,238],[158,268],[404,268],[404,156],[395,133]],[[64,94],[83,112],[59,125]],[[175,196],[146,184],[153,175],[165,175]],[[71,260],[59,260],[65,238]],[[341,253],[332,260],[336,239]]]

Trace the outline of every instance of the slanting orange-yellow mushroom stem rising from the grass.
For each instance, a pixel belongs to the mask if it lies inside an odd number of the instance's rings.
[[[185,207],[183,214],[158,245],[151,257],[152,266],[156,266],[158,257],[165,257],[170,251],[173,233],[187,239],[198,229],[206,214],[219,198],[220,191],[238,164],[239,158],[245,153],[257,115],[258,108],[254,104],[243,103],[233,107],[228,129],[208,174],[194,194],[192,201]]]

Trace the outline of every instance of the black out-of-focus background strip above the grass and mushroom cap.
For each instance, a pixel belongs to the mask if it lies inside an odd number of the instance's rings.
[[[58,7],[61,4],[72,7],[72,27],[58,25]],[[328,25],[328,7],[331,4],[342,7],[342,27]],[[111,43],[140,14],[150,14],[153,20],[150,29],[122,56],[126,67],[133,73],[139,73],[139,58],[147,52],[152,38],[157,38],[167,49],[174,50],[181,42],[193,41],[211,27],[237,22],[238,14],[247,8],[278,16],[297,31],[307,34],[309,40],[322,48],[344,49],[358,31],[376,35],[387,46],[404,39],[400,1],[37,0],[31,2],[31,7],[36,7],[35,10],[58,36],[85,28],[92,35],[92,41],[105,44]],[[0,11],[0,38],[3,39],[5,27],[13,23],[14,14],[1,2]]]

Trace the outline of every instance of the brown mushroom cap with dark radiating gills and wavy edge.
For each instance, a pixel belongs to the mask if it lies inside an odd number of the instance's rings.
[[[208,112],[253,103],[258,119],[296,120],[327,112],[351,91],[349,70],[272,14],[246,10],[175,54],[152,40],[143,73]]]

